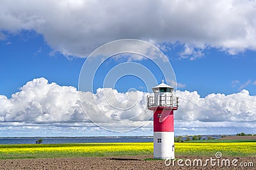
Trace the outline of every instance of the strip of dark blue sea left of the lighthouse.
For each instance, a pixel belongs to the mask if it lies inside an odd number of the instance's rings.
[[[153,142],[153,137],[137,136],[108,136],[108,137],[24,137],[24,138],[0,138],[0,145],[4,144],[34,144],[42,139],[44,144],[60,143],[136,143]]]

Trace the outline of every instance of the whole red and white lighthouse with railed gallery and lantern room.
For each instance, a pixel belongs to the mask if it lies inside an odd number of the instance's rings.
[[[147,108],[154,111],[154,159],[175,159],[173,111],[178,110],[178,97],[173,87],[162,83],[147,96]]]

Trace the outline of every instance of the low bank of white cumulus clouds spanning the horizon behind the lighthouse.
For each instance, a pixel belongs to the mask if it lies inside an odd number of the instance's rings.
[[[138,127],[141,122],[147,122],[143,127],[152,130],[152,118],[148,121],[148,115],[152,115],[152,112],[143,110],[146,106],[147,94],[145,92],[136,93],[138,103],[131,110],[115,112],[106,103],[104,93],[102,93],[104,90],[113,92],[116,99],[122,102],[127,100],[127,96],[134,95],[134,92],[124,94],[113,89],[98,89],[96,94],[81,92],[83,102],[88,106],[85,109],[86,112],[95,114],[96,120],[105,126]],[[177,96],[179,96],[179,110],[175,111],[175,129],[178,132],[182,129],[193,131],[193,129],[207,128],[246,127],[253,129],[256,127],[256,96],[250,96],[248,90],[229,95],[209,94],[204,98],[200,97],[197,92],[177,91]],[[102,110],[108,113],[109,117],[123,118],[124,124],[120,122],[116,124],[110,118],[102,120],[101,117],[97,117]],[[131,119],[141,112],[143,114]],[[130,119],[125,120],[125,118]],[[48,83],[45,78],[29,81],[10,99],[0,96],[0,127],[1,125],[44,128],[51,125],[97,129],[97,126],[84,115],[75,87]]]

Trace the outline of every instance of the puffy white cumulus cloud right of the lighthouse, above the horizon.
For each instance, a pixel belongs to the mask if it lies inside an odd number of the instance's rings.
[[[246,122],[250,127],[256,122],[256,96],[250,96],[248,90],[229,95],[209,94],[204,98],[197,92],[177,91],[177,96],[179,110],[175,120],[188,127],[227,127],[227,122],[233,122],[228,124],[232,126]]]

